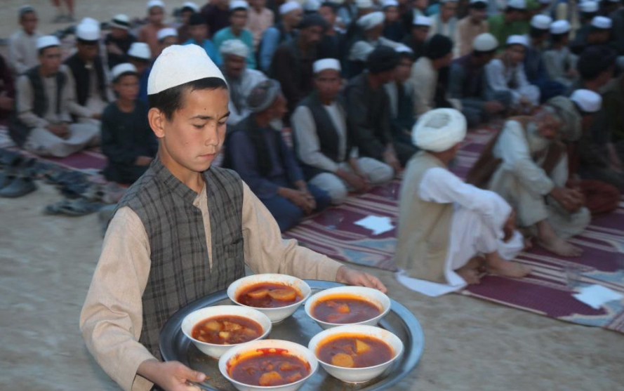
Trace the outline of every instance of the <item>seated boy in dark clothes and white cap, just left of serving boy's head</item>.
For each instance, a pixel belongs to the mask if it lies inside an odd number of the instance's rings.
[[[102,153],[108,159],[107,180],[132,184],[147,171],[157,151],[154,132],[147,123],[147,105],[137,100],[139,75],[127,62],[112,69],[117,100],[102,114]]]

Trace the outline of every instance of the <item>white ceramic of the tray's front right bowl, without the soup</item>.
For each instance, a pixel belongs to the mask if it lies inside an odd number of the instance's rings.
[[[390,361],[376,366],[368,366],[366,368],[345,368],[343,366],[335,366],[322,362],[317,357],[319,363],[323,369],[327,371],[327,373],[347,383],[364,383],[376,378],[388,369],[388,367],[391,366],[392,363],[394,363],[401,356],[401,354],[403,354],[403,342],[401,342],[399,337],[390,333],[390,331],[380,329],[379,327],[363,326],[361,324],[332,327],[331,329],[321,331],[310,340],[307,347],[316,356],[317,347],[327,338],[336,336],[337,334],[363,334],[364,336],[379,338],[392,347],[393,355]]]

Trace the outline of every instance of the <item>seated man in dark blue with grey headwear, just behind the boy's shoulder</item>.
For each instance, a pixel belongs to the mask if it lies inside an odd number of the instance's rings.
[[[305,182],[293,151],[281,136],[276,122],[286,114],[286,98],[279,83],[269,79],[255,86],[247,107],[251,114],[228,135],[225,166],[241,175],[284,232],[303,216],[322,211],[331,199]]]

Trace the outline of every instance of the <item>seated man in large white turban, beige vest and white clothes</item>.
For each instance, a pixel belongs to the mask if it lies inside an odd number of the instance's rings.
[[[479,284],[483,271],[524,277],[529,267],[510,261],[522,250],[515,213],[498,194],[464,183],[448,169],[466,135],[458,110],[430,110],[413,128],[420,148],[401,187],[394,262],[397,279],[438,296]]]

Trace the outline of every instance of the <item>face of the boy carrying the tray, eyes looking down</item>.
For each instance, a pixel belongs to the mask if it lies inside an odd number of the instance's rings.
[[[224,88],[182,94],[182,107],[171,121],[157,109],[150,110],[150,125],[161,149],[178,165],[197,173],[206,171],[225,140],[229,94]],[[152,112],[159,114],[152,114]],[[152,118],[154,115],[154,118]]]

